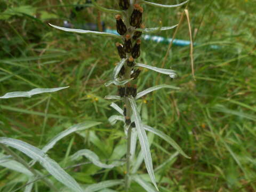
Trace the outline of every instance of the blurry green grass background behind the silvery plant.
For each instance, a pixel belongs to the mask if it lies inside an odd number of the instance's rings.
[[[117,8],[114,1],[98,2]],[[103,99],[116,93],[115,86],[103,85],[118,61],[115,40],[65,33],[47,25],[51,22],[61,26],[63,20],[69,20],[78,26],[97,23],[100,18],[108,28],[115,28],[113,14],[100,13],[92,7],[70,19],[77,3],[86,1],[12,0],[1,1],[0,7],[1,95],[36,87],[70,86],[53,94],[1,100],[0,135],[42,148],[73,124],[86,120],[103,123],[90,131],[70,135],[49,151],[49,156],[62,167],[79,163],[67,162],[65,158],[79,149],[88,148],[101,159],[109,159],[114,150],[122,152],[126,143],[123,125],[113,127],[108,123],[108,117],[116,111],[109,107],[110,101]],[[139,90],[156,83],[181,87],[180,91],[158,90],[138,102],[142,105],[143,121],[170,135],[191,157],[178,155],[170,160],[175,150],[154,137],[154,167],[169,159],[156,172],[162,182],[161,191],[256,191],[255,5],[254,0],[190,1],[193,38],[200,44],[194,48],[196,82],[191,76],[189,47],[173,46],[169,53],[165,68],[177,71],[178,78],[173,81],[160,75],[156,82],[158,74],[142,71]],[[145,25],[156,27],[160,20],[163,26],[178,23],[184,7],[143,8]],[[172,37],[173,32],[156,35]],[[189,40],[186,20],[177,38]],[[210,49],[211,44],[221,48]],[[161,67],[166,50],[165,44],[143,41],[139,61]],[[81,162],[84,161],[87,160]],[[42,169],[39,164],[36,168]],[[67,171],[78,182],[88,184],[123,178],[125,166],[102,171],[89,164]],[[139,173],[146,173],[143,164]],[[13,191],[26,181],[20,173],[0,169],[1,191]],[[143,191],[135,184],[132,187],[131,191]],[[48,190],[41,181],[36,182],[35,191]]]

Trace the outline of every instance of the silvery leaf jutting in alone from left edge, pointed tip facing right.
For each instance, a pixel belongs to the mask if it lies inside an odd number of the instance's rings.
[[[31,96],[33,96],[35,94],[52,93],[52,92],[55,92],[55,91],[66,89],[68,87],[69,86],[67,86],[67,87],[52,88],[52,89],[37,88],[37,89],[30,90],[30,91],[15,91],[15,92],[6,93],[2,97],[0,97],[0,99],[16,98],[16,97],[28,97],[28,98],[30,98]]]

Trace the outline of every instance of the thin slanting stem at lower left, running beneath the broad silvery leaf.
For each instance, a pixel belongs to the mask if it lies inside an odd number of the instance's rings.
[[[19,155],[15,154],[11,149],[0,143],[0,147],[6,151],[7,154],[11,155],[17,162],[24,165],[31,173],[33,173],[36,177],[38,176],[38,173],[28,165],[26,161],[24,161]],[[58,191],[57,188],[55,188],[52,183],[47,181],[45,178],[42,178],[42,181],[46,183],[53,191]]]

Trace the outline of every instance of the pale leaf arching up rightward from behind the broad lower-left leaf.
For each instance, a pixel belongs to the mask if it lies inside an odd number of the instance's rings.
[[[49,141],[42,149],[42,151],[44,153],[46,153],[49,149],[51,149],[56,142],[58,142],[59,140],[61,140],[63,137],[66,137],[67,135],[74,133],[76,131],[82,131],[85,129],[89,129],[90,127],[96,126],[101,124],[100,122],[92,122],[92,121],[88,121],[88,122],[84,122],[84,123],[79,123],[76,125],[73,125],[71,127],[69,127],[67,130],[60,132],[58,135],[56,135],[53,139],[51,139],[51,141]]]

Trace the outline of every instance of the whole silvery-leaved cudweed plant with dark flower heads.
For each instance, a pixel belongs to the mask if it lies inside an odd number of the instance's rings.
[[[176,26],[171,27],[155,27],[155,28],[145,28],[143,25],[143,8],[142,4],[152,5],[155,7],[177,7],[183,5],[186,2],[177,5],[162,5],[153,2],[147,2],[144,0],[119,0],[118,5],[121,10],[111,10],[106,9],[95,3],[93,0],[93,5],[104,12],[115,14],[116,20],[116,30],[119,35],[99,32],[99,31],[90,31],[90,30],[81,30],[81,29],[70,29],[70,28],[63,28],[51,25],[60,30],[69,31],[73,33],[81,33],[81,34],[92,34],[92,35],[101,35],[101,36],[108,36],[113,37],[116,39],[115,45],[118,52],[119,57],[121,60],[117,63],[115,69],[113,70],[112,79],[108,81],[105,85],[109,86],[114,84],[117,86],[118,95],[108,95],[106,99],[115,99],[121,101],[121,105],[124,106],[121,109],[116,103],[112,103],[111,107],[117,110],[120,115],[114,115],[109,117],[109,122],[114,125],[116,121],[123,121],[124,122],[124,131],[127,138],[127,151],[126,151],[126,158],[125,162],[122,161],[115,161],[111,164],[102,163],[99,157],[88,149],[82,149],[77,151],[74,155],[70,157],[70,161],[77,159],[81,156],[85,156],[89,159],[94,165],[105,169],[112,169],[115,166],[122,166],[124,163],[126,164],[126,174],[125,179],[119,180],[109,180],[109,181],[102,181],[100,183],[95,183],[93,185],[89,185],[86,187],[81,187],[68,173],[66,173],[58,163],[53,161],[49,158],[46,153],[50,150],[56,142],[58,142],[63,137],[66,137],[70,133],[81,131],[88,129],[92,126],[99,125],[98,122],[84,122],[81,124],[74,125],[69,129],[59,133],[56,137],[54,137],[43,149],[38,149],[34,146],[29,145],[26,142],[11,139],[11,138],[0,138],[0,147],[2,147],[6,153],[10,156],[2,155],[0,158],[0,165],[5,167],[10,167],[7,165],[8,160],[11,160],[12,164],[15,164],[19,167],[22,167],[22,172],[27,174],[29,177],[29,185],[27,188],[33,187],[33,181],[35,178],[38,178],[42,175],[41,172],[35,170],[33,165],[36,161],[41,163],[41,165],[57,180],[63,183],[67,188],[61,189],[61,191],[68,191],[71,189],[72,191],[114,191],[108,190],[108,187],[121,185],[124,187],[126,191],[130,190],[130,185],[132,181],[137,182],[141,187],[143,187],[146,191],[158,191],[157,187],[157,180],[155,179],[154,170],[153,170],[153,163],[150,154],[150,144],[146,134],[146,131],[149,131],[153,134],[158,135],[165,141],[169,142],[173,148],[175,148],[178,153],[182,154],[183,156],[189,158],[182,149],[178,146],[178,144],[173,141],[168,135],[164,134],[162,131],[159,131],[153,127],[148,125],[142,124],[141,117],[140,117],[140,110],[137,107],[136,100],[141,98],[143,95],[146,95],[149,92],[162,89],[162,88],[170,88],[170,89],[179,89],[178,87],[171,86],[171,85],[157,85],[150,87],[142,92],[137,93],[137,84],[135,83],[137,79],[140,77],[141,69],[140,68],[147,68],[150,70],[154,70],[161,74],[169,75],[171,78],[175,77],[175,71],[170,69],[162,69],[153,66],[148,66],[142,63],[138,63],[137,59],[140,57],[141,52],[141,37],[144,33],[154,33],[159,30],[168,30],[172,29]],[[11,92],[6,93],[3,98],[12,98],[12,97],[31,97],[31,95],[44,93],[44,92],[54,92],[59,91],[61,89],[65,89],[67,87],[59,87],[55,89],[34,89],[29,92]],[[137,157],[135,157],[136,151],[136,143],[137,138],[139,138],[140,144],[140,153]],[[20,156],[15,154],[10,148],[7,146],[13,147],[15,149],[20,150],[22,153],[26,154],[27,156],[31,157],[33,161],[30,163],[25,162]],[[137,174],[137,170],[144,160],[146,169],[149,175],[151,182],[153,183],[154,187],[146,182],[145,180]],[[10,163],[10,162],[9,162]],[[20,171],[20,170],[19,170]],[[52,191],[60,191],[55,188],[52,182],[48,179],[42,178],[42,180],[48,185]],[[103,191],[102,190],[102,191]]]

